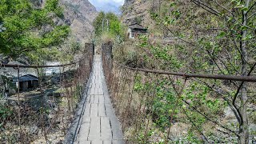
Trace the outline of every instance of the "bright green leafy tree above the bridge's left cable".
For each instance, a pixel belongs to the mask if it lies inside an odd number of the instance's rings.
[[[56,26],[53,21],[56,17],[62,17],[58,0],[47,0],[42,8],[29,0],[1,0],[0,21],[6,31],[0,33],[0,53],[17,58],[21,54],[60,45],[70,30],[69,26]]]

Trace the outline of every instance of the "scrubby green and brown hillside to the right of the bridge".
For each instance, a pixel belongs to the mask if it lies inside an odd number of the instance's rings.
[[[161,34],[152,37],[153,33],[114,46],[116,61],[132,67],[195,74],[246,76],[255,73],[255,2],[161,0],[152,3],[148,10],[158,24],[155,29],[161,30]],[[143,1],[140,4],[143,5]],[[150,79],[143,80],[143,75],[138,74],[134,77],[135,91],[131,91],[143,98],[143,95],[152,95],[152,88],[156,86],[152,114],[148,113],[154,126],[149,132],[161,130],[167,134],[170,125],[186,123],[189,128],[182,136],[183,142],[255,141],[254,83],[192,78],[178,101],[175,88],[181,90],[183,80],[155,77],[155,81],[151,81],[153,86],[147,86],[145,81]],[[129,98],[126,94],[121,95],[118,98]],[[119,100],[115,104],[122,109]],[[174,104],[177,101],[178,107]],[[136,107],[136,100],[131,102]],[[118,111],[122,114],[122,110]],[[174,122],[170,122],[173,111]],[[131,114],[130,118],[136,119],[136,114],[133,116]],[[133,124],[126,124],[126,134],[134,130]],[[138,139],[148,135],[154,138],[152,134],[135,133],[139,135],[135,137]],[[130,137],[134,138],[134,135]],[[181,142],[175,134],[174,137],[170,135],[170,139]],[[144,143],[145,138],[139,142]]]

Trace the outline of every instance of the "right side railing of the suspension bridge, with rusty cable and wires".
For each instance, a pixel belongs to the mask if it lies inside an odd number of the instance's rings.
[[[186,74],[123,66],[113,60],[111,43],[102,44],[102,66],[110,98],[126,135],[126,143],[190,142],[174,136],[172,131],[178,127],[178,123],[188,123],[189,127],[193,127],[192,130],[199,135],[193,138],[198,138],[201,142],[222,143],[226,139],[234,142],[238,138],[238,130],[221,122],[222,116],[218,115],[217,105],[210,109],[206,103],[215,102],[213,98],[219,105],[227,103],[234,117],[239,118],[239,102],[236,99],[239,89],[236,88],[244,82],[256,82],[255,76]],[[230,86],[223,80],[237,81],[240,84]],[[255,94],[254,88],[254,85],[250,85],[248,90]],[[238,91],[230,95],[226,89]],[[205,103],[200,98],[204,98]],[[213,135],[220,132],[226,134],[226,138],[208,137],[206,130],[202,130],[203,124],[196,122],[197,118],[202,118],[205,125],[208,122],[214,126],[211,130],[214,131]]]

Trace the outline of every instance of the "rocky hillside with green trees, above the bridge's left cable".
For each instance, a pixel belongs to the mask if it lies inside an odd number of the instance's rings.
[[[1,10],[6,28],[1,33],[1,58],[6,62],[23,54],[32,58],[26,61],[33,61],[42,50],[56,53],[72,42],[90,42],[98,14],[88,1],[2,1]]]

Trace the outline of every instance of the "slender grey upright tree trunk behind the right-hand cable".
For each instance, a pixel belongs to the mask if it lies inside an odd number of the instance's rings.
[[[249,6],[250,0],[246,0],[246,7]],[[242,11],[242,24],[243,26],[247,25],[246,22],[246,10]],[[242,70],[241,70],[241,74],[242,76],[246,76],[247,75],[247,61],[248,61],[248,54],[247,54],[247,50],[246,50],[246,40],[244,38],[246,38],[246,34],[247,34],[247,30],[242,30],[242,39],[240,42],[240,49],[242,52]],[[242,121],[240,122],[239,125],[239,138],[238,138],[238,142],[241,144],[246,144],[249,143],[249,129],[248,129],[248,117],[247,117],[247,82],[244,82],[242,88],[241,88],[241,97],[240,97],[240,114],[242,115]]]

